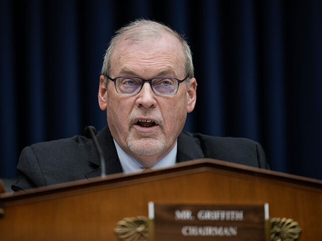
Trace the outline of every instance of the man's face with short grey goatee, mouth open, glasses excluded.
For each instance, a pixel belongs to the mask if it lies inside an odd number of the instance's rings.
[[[162,39],[141,43],[121,40],[111,58],[111,78],[135,76],[185,78],[184,54],[179,40],[164,34]],[[183,82],[172,96],[155,95],[145,83],[138,94],[124,95],[100,77],[99,104],[107,109],[111,134],[119,146],[145,167],[154,166],[175,146],[176,140],[196,102],[196,80]]]

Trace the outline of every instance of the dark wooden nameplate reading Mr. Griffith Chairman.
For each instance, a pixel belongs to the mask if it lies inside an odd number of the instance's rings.
[[[264,205],[150,203],[149,217],[154,219],[155,241],[265,240]]]

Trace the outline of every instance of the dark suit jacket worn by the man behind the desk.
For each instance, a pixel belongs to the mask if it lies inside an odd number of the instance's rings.
[[[97,134],[106,160],[107,174],[122,172],[108,127]],[[244,138],[221,138],[182,132],[177,162],[214,158],[268,168],[260,144]],[[100,176],[100,161],[93,141],[83,136],[43,142],[26,147],[17,166],[14,191]]]

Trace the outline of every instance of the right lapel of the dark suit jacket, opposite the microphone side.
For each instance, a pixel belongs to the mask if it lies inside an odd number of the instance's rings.
[[[177,162],[204,158],[198,139],[182,132],[178,137]]]

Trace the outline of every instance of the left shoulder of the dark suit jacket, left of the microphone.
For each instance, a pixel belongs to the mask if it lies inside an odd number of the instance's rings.
[[[17,183],[12,189],[24,190],[84,178],[89,169],[92,142],[82,136],[40,142],[20,154]]]

